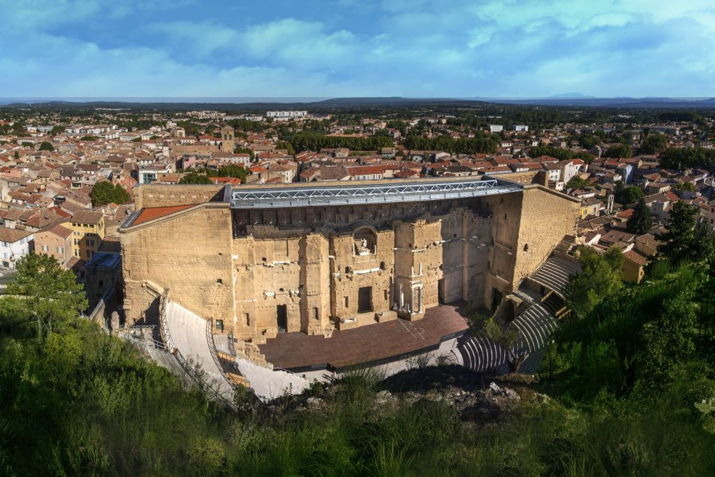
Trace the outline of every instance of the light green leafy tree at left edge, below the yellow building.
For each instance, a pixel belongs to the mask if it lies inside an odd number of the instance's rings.
[[[59,322],[74,318],[87,308],[83,285],[77,283],[74,272],[64,270],[49,255],[30,253],[15,264],[17,275],[7,286],[11,305],[22,310],[34,322],[36,337],[44,340]],[[0,306],[2,308],[2,306]]]

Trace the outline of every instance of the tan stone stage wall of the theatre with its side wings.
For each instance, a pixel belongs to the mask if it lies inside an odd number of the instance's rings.
[[[202,195],[164,187],[144,189],[144,207]],[[578,201],[535,185],[409,204],[232,210],[207,202],[120,229],[127,321],[156,320],[164,288],[254,343],[277,335],[279,308],[287,331],[330,335],[397,315],[416,320],[440,301],[489,306],[493,290],[513,290],[575,232],[577,216]]]

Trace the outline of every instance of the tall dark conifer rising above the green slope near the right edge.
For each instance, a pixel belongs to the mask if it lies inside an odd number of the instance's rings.
[[[696,258],[695,223],[699,208],[679,200],[673,205],[666,232],[656,236],[661,241],[656,256],[677,265]]]

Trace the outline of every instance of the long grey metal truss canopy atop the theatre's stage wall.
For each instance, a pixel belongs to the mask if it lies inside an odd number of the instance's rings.
[[[232,190],[231,207],[265,209],[320,205],[385,204],[422,202],[518,192],[523,186],[503,180],[420,180],[392,184],[347,185],[343,187],[237,187]]]

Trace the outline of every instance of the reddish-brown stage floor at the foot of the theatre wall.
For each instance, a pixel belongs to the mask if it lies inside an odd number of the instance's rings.
[[[425,318],[414,322],[398,318],[352,330],[335,330],[331,338],[278,333],[259,348],[275,368],[294,371],[388,361],[424,348],[436,349],[442,341],[463,334],[467,329],[467,320],[460,315],[463,305],[429,308]]]

